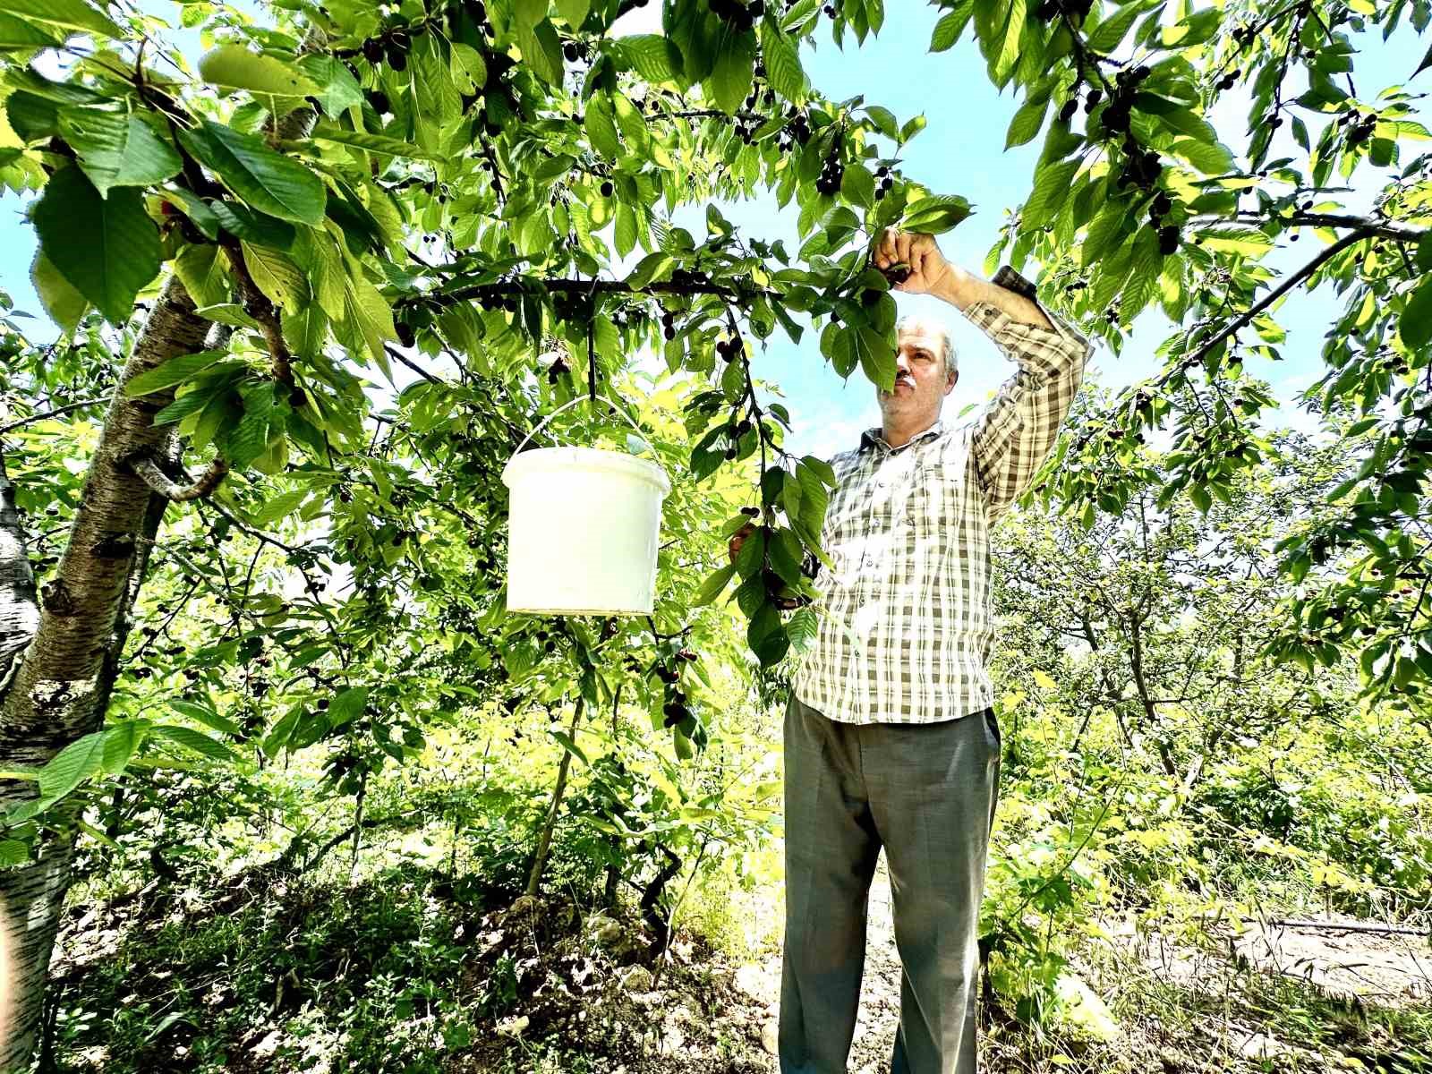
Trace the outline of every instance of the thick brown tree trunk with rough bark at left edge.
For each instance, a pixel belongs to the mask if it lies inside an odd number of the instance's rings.
[[[162,458],[173,437],[172,425],[152,424],[173,392],[129,398],[123,385],[170,358],[203,349],[208,331],[209,322],[195,315],[183,285],[170,279],[115,390],[69,544],[56,577],[40,593],[34,637],[19,657],[0,706],[0,766],[43,766],[103,719],[99,700],[107,692],[106,657],[150,516],[149,485],[132,475],[123,460],[135,453]],[[0,546],[4,553],[24,560],[23,546]],[[14,576],[14,558],[0,561],[0,579]],[[16,593],[11,586],[0,599],[14,603]],[[11,609],[0,609],[0,623],[13,619]],[[0,780],[0,809],[33,798],[34,790],[33,782]],[[50,949],[70,885],[74,836],[59,812],[54,829],[36,836],[30,863],[0,872],[0,1071],[6,1074],[29,1065]]]

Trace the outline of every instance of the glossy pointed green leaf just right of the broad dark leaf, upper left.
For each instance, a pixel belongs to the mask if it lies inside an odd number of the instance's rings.
[[[322,180],[296,160],[275,153],[263,139],[206,119],[199,127],[180,130],[179,140],[259,212],[311,225],[324,219]]]

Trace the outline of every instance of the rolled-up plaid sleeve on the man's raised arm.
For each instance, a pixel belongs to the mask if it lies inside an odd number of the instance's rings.
[[[1001,269],[994,282],[1005,285],[1010,278],[1025,285],[1011,289],[1035,301],[1032,288],[1012,271]],[[964,309],[965,316],[1020,367],[974,424],[974,463],[991,520],[1030,487],[1048,457],[1094,349],[1063,319],[1044,306],[1040,309],[1053,329],[1015,321],[992,302],[974,302]]]

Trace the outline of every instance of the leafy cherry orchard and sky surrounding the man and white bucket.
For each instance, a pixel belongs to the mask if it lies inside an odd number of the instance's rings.
[[[770,1070],[884,226],[1100,342],[998,531],[991,1065],[1425,1070],[1429,16],[0,0],[0,1070]],[[593,392],[656,610],[507,614]],[[1239,947],[1310,916],[1406,957]]]

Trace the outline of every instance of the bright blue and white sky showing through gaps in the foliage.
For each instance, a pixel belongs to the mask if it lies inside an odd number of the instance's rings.
[[[156,3],[146,7],[172,13],[170,17],[178,21],[178,6]],[[1018,205],[1028,192],[1042,136],[1005,152],[1005,130],[1018,100],[1012,89],[1007,87],[1001,95],[990,83],[984,60],[969,33],[952,50],[931,54],[929,36],[939,11],[912,0],[892,0],[886,7],[891,14],[882,33],[866,39],[863,46],[855,46],[853,39],[848,39],[842,52],[826,39],[816,49],[808,47],[803,53],[806,73],[812,84],[829,97],[839,100],[865,95],[868,102],[889,107],[901,122],[924,113],[927,129],[906,146],[902,168],[908,176],[935,192],[959,193],[974,205],[974,215],[955,231],[942,235],[939,245],[952,262],[979,272],[1007,211]],[[659,6],[647,4],[624,19],[619,29],[639,33],[656,29],[652,21],[659,19]],[[186,37],[193,40],[195,34]],[[196,44],[195,42],[195,47]],[[1418,37],[1405,24],[1392,42],[1383,43],[1380,34],[1363,34],[1359,46],[1362,49],[1355,74],[1358,90],[1363,100],[1372,100],[1385,86],[1411,76],[1426,50],[1426,39]],[[1305,89],[1302,77],[1295,79],[1295,84],[1285,90],[1285,97]],[[1425,72],[1411,89],[1426,89],[1422,83],[1432,83],[1432,72]],[[1247,143],[1246,115],[1247,96],[1240,87],[1224,95],[1211,116],[1223,140],[1239,155]],[[1309,127],[1316,139],[1316,126],[1309,123]],[[1282,139],[1286,132],[1285,126],[1270,156],[1300,158],[1302,150],[1290,137]],[[1403,153],[1409,147],[1419,149],[1416,143],[1406,143]],[[1388,172],[1363,166],[1353,176],[1352,185],[1356,189],[1346,196],[1348,203],[1358,209],[1366,208],[1372,193],[1386,178]],[[795,245],[793,206],[780,211],[773,198],[762,198],[722,205],[722,211],[750,238],[786,238],[788,245]],[[699,221],[700,212],[680,219],[696,233],[703,231]],[[1285,241],[1283,249],[1270,255],[1269,263],[1286,271],[1312,258],[1317,249],[1319,239],[1309,232],[1299,242]],[[0,284],[20,308],[40,314],[29,281],[33,253],[34,236],[21,216],[20,200],[13,195],[0,198]],[[1025,275],[1032,278],[1035,274],[1037,266],[1025,266]],[[955,391],[945,401],[947,420],[954,418],[967,404],[982,402],[1012,372],[1014,367],[1000,355],[994,344],[954,308],[919,296],[901,295],[898,301],[901,312],[939,312],[951,326],[961,358],[961,375]],[[1283,361],[1250,362],[1249,371],[1270,379],[1279,398],[1290,401],[1297,390],[1316,379],[1323,334],[1340,308],[1342,299],[1330,288],[1290,296],[1277,314],[1289,332],[1282,347]],[[1108,348],[1097,348],[1095,375],[1110,385],[1148,375],[1157,367],[1154,348],[1170,331],[1171,325],[1161,311],[1146,311],[1136,321],[1121,355],[1114,358]],[[53,328],[34,331],[33,335],[50,338]],[[861,428],[879,422],[874,387],[859,372],[849,381],[841,381],[825,364],[816,339],[809,332],[800,345],[790,344],[782,332],[773,335],[768,349],[758,352],[755,369],[758,377],[780,385],[796,425],[788,440],[790,450],[829,457],[852,447]],[[1303,424],[1290,412],[1285,412],[1282,420]]]

